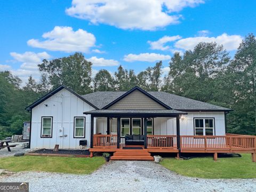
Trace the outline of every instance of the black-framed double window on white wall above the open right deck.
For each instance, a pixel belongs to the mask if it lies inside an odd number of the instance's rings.
[[[195,118],[195,135],[214,135],[214,118]]]

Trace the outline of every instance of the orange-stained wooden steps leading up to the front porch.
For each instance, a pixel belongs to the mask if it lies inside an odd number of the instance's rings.
[[[117,149],[111,160],[146,160],[153,161],[154,157],[148,153],[147,149]]]

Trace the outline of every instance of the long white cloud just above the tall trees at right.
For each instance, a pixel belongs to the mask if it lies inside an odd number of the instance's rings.
[[[224,49],[227,51],[236,50],[239,44],[242,42],[242,37],[240,35],[227,35],[223,33],[217,37],[188,37],[180,39],[175,42],[174,46],[178,49],[183,50],[193,50],[194,47],[200,42],[216,42],[217,44],[222,44]]]

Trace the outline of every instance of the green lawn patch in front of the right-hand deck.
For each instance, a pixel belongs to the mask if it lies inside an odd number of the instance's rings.
[[[218,162],[214,162],[213,157],[199,157],[189,160],[164,158],[161,165],[188,177],[256,178],[256,163],[252,162],[251,154],[242,154],[242,157],[218,158]]]

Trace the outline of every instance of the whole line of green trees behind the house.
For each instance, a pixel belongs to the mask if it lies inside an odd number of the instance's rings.
[[[140,86],[146,91],[165,91],[234,109],[227,115],[229,133],[256,132],[256,38],[246,36],[233,58],[222,45],[201,42],[183,55],[175,53],[170,71],[163,77],[162,61],[138,74],[122,66],[111,75],[101,69],[92,77],[92,63],[82,53],[43,60],[41,79],[30,76],[25,86],[10,71],[0,72],[0,137],[22,133],[29,121],[25,107],[61,84],[78,94],[95,91],[127,91]]]

